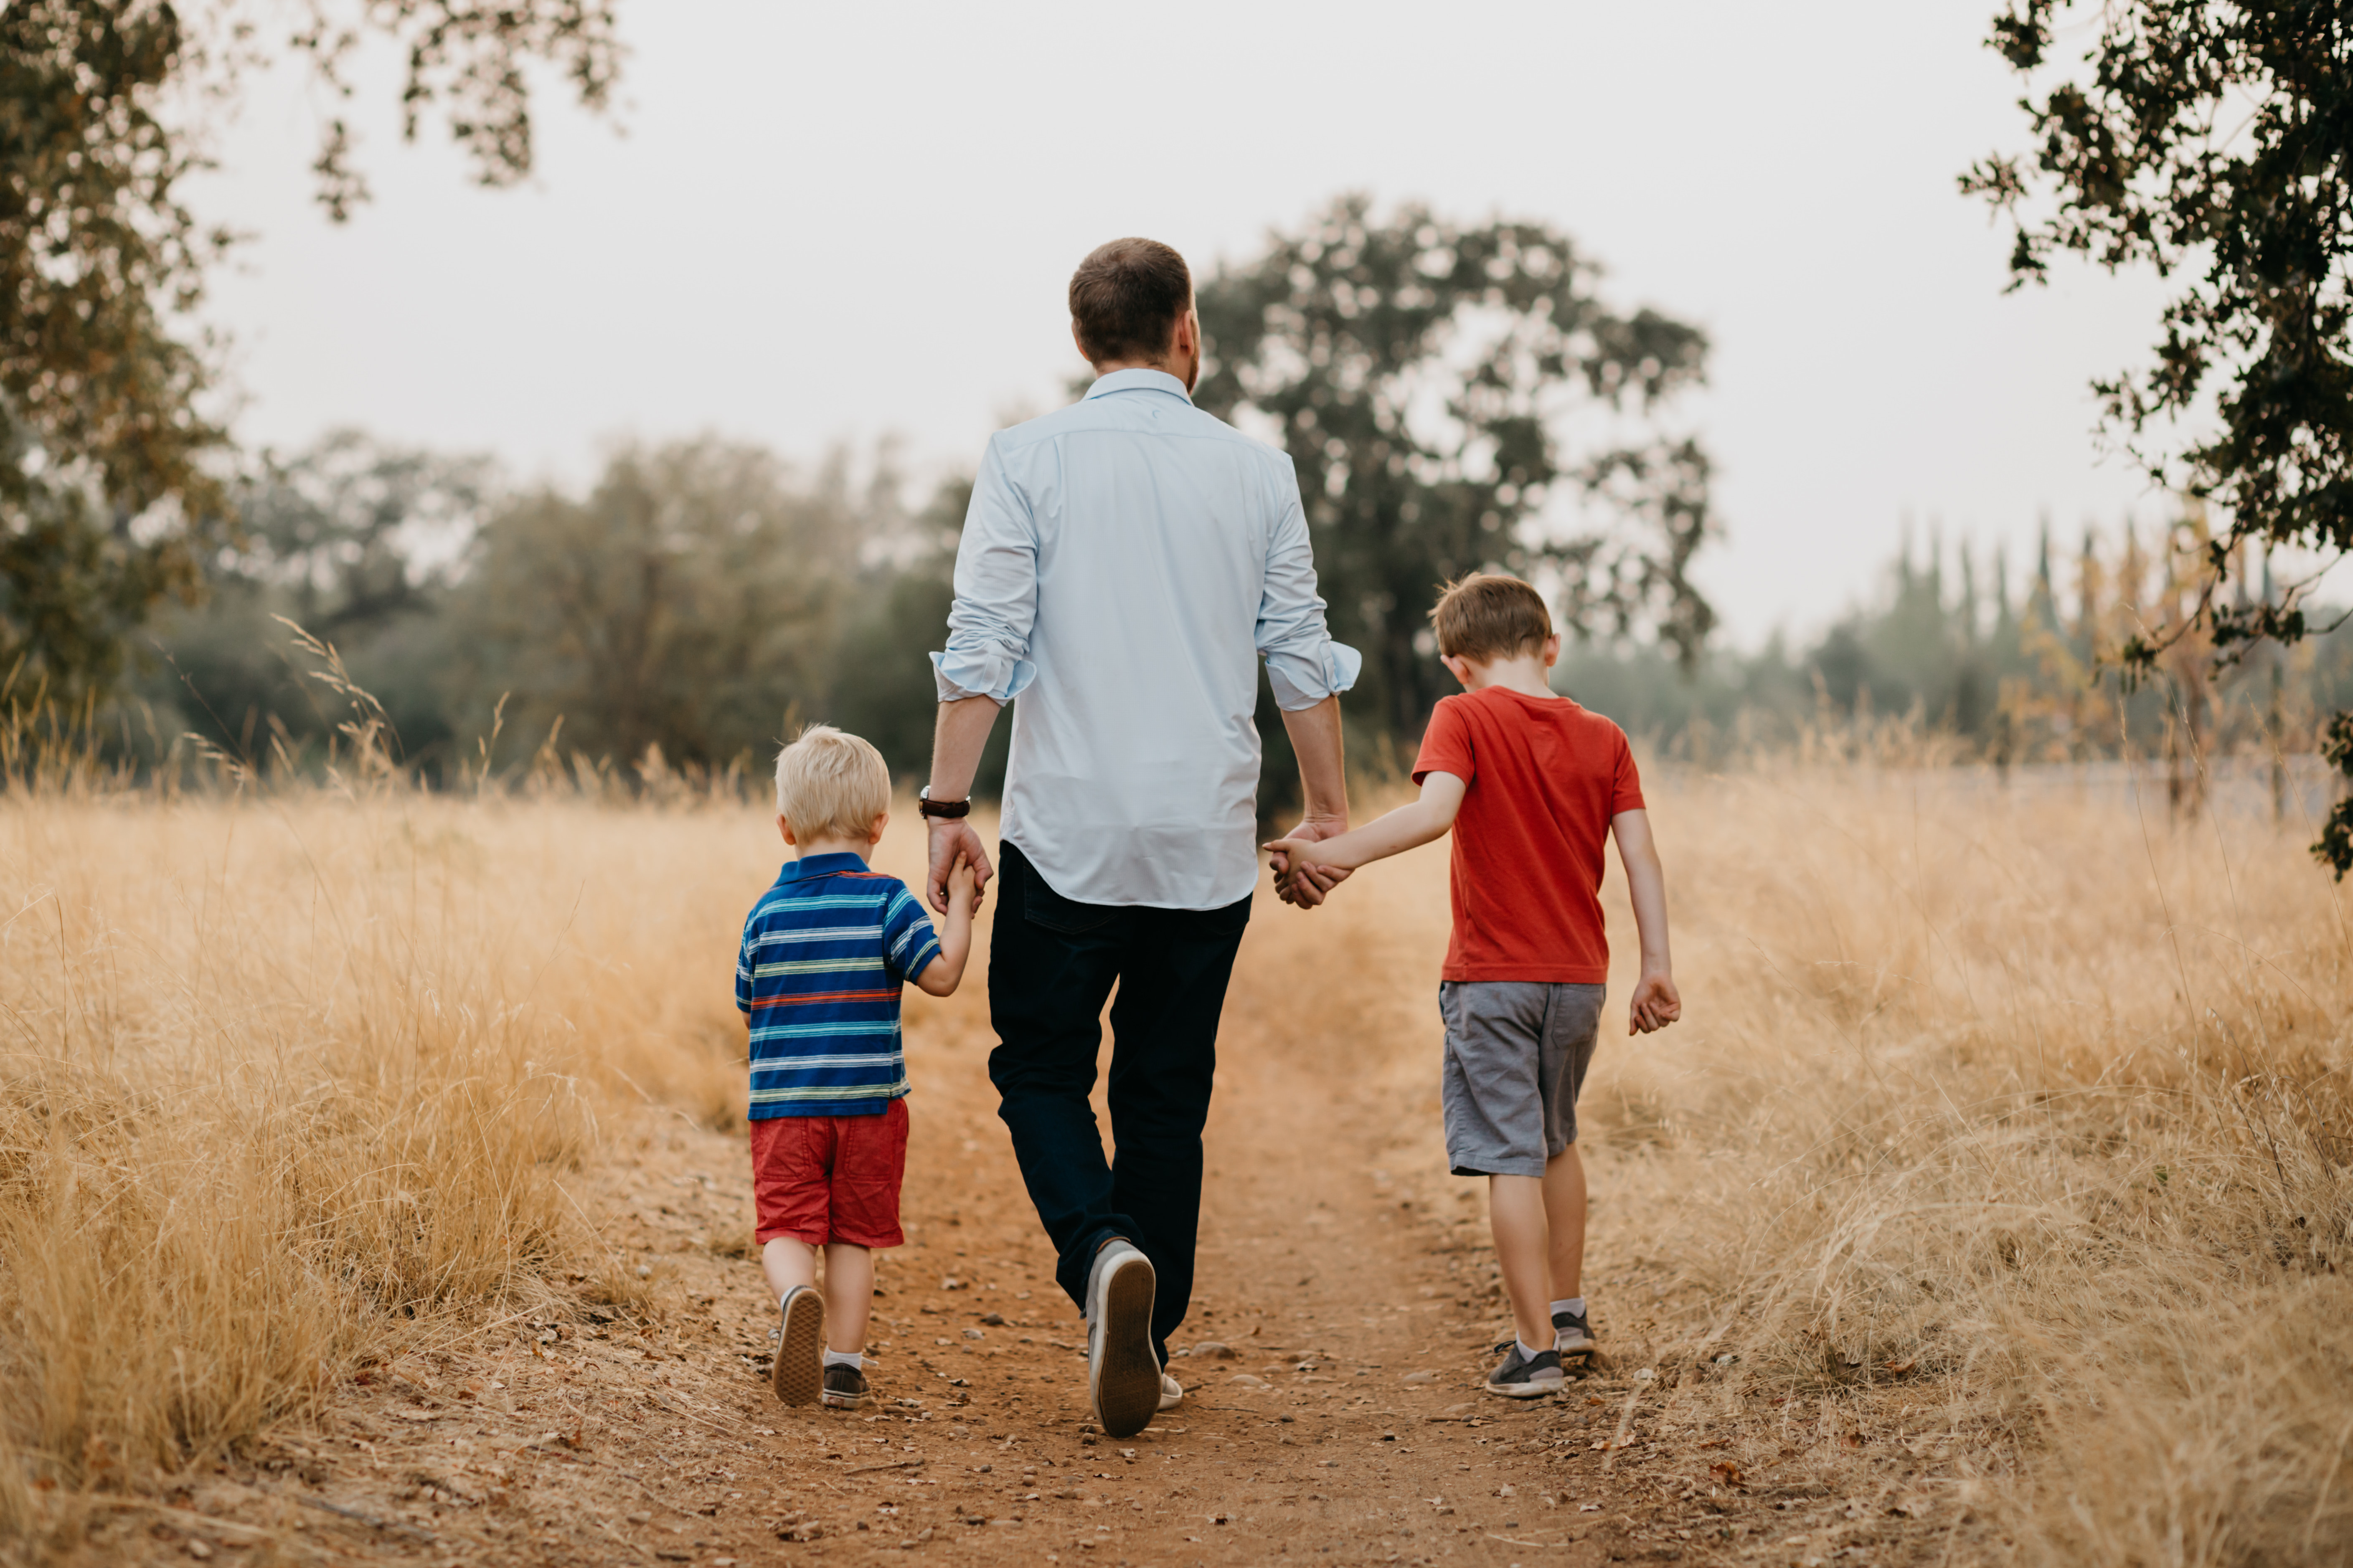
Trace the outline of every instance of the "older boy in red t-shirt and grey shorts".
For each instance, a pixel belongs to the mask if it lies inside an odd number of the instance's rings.
[[[1287,858],[1297,903],[1322,903],[1351,872],[1454,832],[1454,936],[1438,1013],[1447,1164],[1487,1178],[1487,1213],[1518,1340],[1487,1392],[1532,1399],[1560,1389],[1560,1356],[1591,1354],[1579,1269],[1586,1253],[1586,1168],[1577,1159],[1577,1091],[1593,1060],[1609,980],[1602,931],[1602,839],[1617,835],[1642,940],[1628,1034],[1682,1018],[1666,954],[1666,877],[1649,842],[1642,783],[1626,731],[1555,696],[1560,635],[1544,595],[1518,578],[1473,574],[1431,609],[1438,654],[1464,684],[1438,703],[1414,759],[1421,799],[1320,844],[1268,844]],[[1308,877],[1325,867],[1322,877]]]

